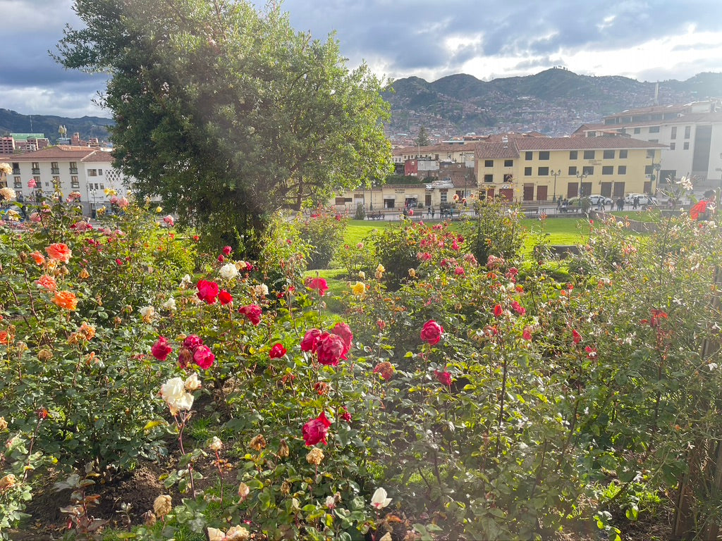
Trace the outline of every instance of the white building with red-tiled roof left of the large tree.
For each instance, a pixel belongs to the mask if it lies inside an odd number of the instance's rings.
[[[59,185],[65,198],[71,192],[80,193],[83,212],[88,215],[110,206],[106,189],[116,190],[118,197],[126,196],[132,180],[112,167],[110,152],[83,146],[48,146],[26,154],[0,156],[0,162],[12,166],[7,183],[25,201],[33,201],[38,190],[50,197],[55,185]],[[36,188],[29,187],[30,179],[35,180]]]

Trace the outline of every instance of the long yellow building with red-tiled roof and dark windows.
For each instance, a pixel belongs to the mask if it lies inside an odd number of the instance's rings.
[[[619,198],[653,193],[652,177],[664,145],[609,137],[510,136],[478,143],[480,198],[555,201],[599,194]]]

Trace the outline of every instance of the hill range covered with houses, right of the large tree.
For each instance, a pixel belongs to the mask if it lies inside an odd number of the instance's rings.
[[[720,97],[722,74],[656,83],[554,68],[491,81],[465,74],[435,82],[407,77],[392,86],[393,91],[383,97],[391,103],[392,118],[386,128],[395,139],[404,138],[398,133],[413,137],[422,126],[440,139],[468,132],[540,131],[564,136],[582,123],[599,122],[604,115],[655,101],[664,105]]]

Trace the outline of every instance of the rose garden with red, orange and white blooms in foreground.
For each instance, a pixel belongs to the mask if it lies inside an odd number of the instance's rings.
[[[319,210],[248,261],[153,205],[28,210],[1,233],[5,537],[718,534],[715,221],[612,216],[560,260],[495,206],[353,246]]]

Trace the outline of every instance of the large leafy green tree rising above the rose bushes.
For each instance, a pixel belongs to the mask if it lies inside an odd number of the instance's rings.
[[[245,0],[76,0],[58,61],[110,74],[118,167],[139,196],[229,240],[391,166],[388,105],[333,37]],[[247,237],[248,238],[248,237]]]

